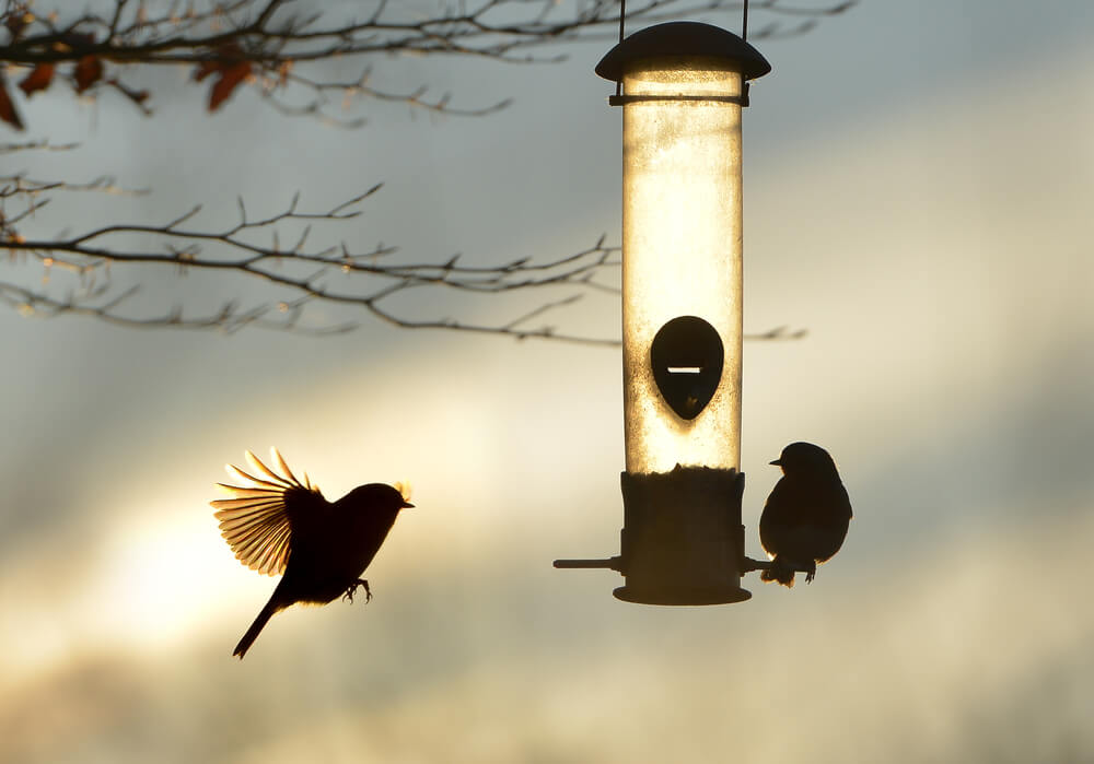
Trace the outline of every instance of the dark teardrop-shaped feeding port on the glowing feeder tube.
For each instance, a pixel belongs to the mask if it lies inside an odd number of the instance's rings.
[[[653,380],[661,397],[686,420],[698,416],[714,397],[723,360],[718,331],[698,316],[672,319],[650,345]]]

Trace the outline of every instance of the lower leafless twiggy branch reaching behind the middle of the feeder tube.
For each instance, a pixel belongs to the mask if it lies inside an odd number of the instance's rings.
[[[550,325],[529,327],[528,322],[548,313],[574,304],[585,294],[618,294],[618,286],[603,283],[596,278],[614,278],[619,263],[619,248],[606,246],[602,236],[593,246],[582,251],[552,260],[536,262],[517,258],[500,265],[462,265],[458,255],[438,262],[383,261],[394,255],[395,247],[377,244],[371,249],[352,251],[342,243],[337,247],[309,248],[306,232],[311,222],[337,223],[350,220],[360,210],[350,209],[379,189],[374,186],[347,202],[319,212],[301,211],[299,196],[281,212],[249,219],[245,204],[240,200],[240,221],[219,231],[186,228],[200,211],[195,207],[163,225],[112,224],[56,240],[34,240],[5,237],[0,246],[8,249],[10,258],[22,254],[39,261],[46,272],[57,269],[70,273],[80,283],[91,286],[81,293],[70,293],[63,299],[44,290],[31,290],[14,283],[0,282],[0,299],[23,315],[53,317],[62,314],[93,316],[110,324],[130,327],[172,327],[179,329],[219,329],[235,332],[244,327],[260,327],[310,334],[328,334],[349,331],[359,321],[318,322],[307,320],[307,307],[316,304],[350,306],[365,310],[372,318],[405,329],[449,329],[474,333],[504,334],[524,340],[552,339],[583,344],[617,345],[613,338],[593,338],[560,332]],[[293,222],[309,222],[296,244],[278,247],[277,226]],[[274,245],[255,244],[256,232],[269,231]],[[160,250],[126,248],[119,236],[144,234],[159,242]],[[203,248],[214,245],[212,254]],[[176,308],[160,316],[140,316],[123,308],[137,294],[136,286],[115,287],[110,267],[146,266],[168,268],[183,272],[207,271],[243,275],[283,290],[291,298],[264,301],[241,308],[235,302],[226,303],[213,313],[184,318]],[[325,278],[341,274],[348,281],[341,289],[326,283]],[[97,277],[97,280],[96,280]],[[48,277],[44,281],[48,281]],[[500,295],[515,291],[563,289],[560,298],[548,298],[537,307],[515,318],[497,324],[467,322],[453,318],[419,319],[399,315],[389,307],[392,298],[416,289],[434,289],[481,295]],[[749,339],[798,339],[803,331],[790,332],[779,327]]]

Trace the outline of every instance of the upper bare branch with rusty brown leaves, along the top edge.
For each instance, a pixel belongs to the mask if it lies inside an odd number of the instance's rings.
[[[363,119],[347,120],[330,111],[357,102],[397,102],[462,116],[491,114],[510,103],[462,107],[453,106],[446,93],[430,94],[424,85],[389,91],[373,82],[372,61],[388,68],[397,66],[392,61],[400,56],[552,62],[566,57],[559,50],[563,45],[612,39],[619,22],[618,0],[474,0],[441,5],[427,16],[400,3],[372,0],[361,3],[371,12],[360,17],[326,11],[302,17],[283,0],[194,0],[185,12],[177,3],[150,10],[143,2],[115,0],[108,14],[74,12],[75,3],[57,2],[54,11],[42,4],[8,0],[7,10],[0,11],[9,37],[0,46],[0,77],[36,73],[33,84],[21,83],[27,97],[58,81],[92,97],[113,90],[150,114],[151,94],[127,85],[121,80],[125,70],[190,67],[196,82],[212,82],[210,110],[247,84],[281,114],[344,127],[360,126]],[[770,23],[752,38],[804,34],[821,19],[852,5],[835,0],[816,8],[783,0],[754,2],[754,10],[766,13]],[[740,9],[740,0],[644,0],[628,9],[627,21],[638,27],[696,15],[725,16]],[[369,63],[360,78],[348,82],[327,79],[322,70],[301,71],[335,58]],[[311,96],[302,97],[306,93]]]

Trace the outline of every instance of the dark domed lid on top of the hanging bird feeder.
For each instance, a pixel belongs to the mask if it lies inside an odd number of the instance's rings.
[[[635,61],[666,56],[722,59],[746,80],[771,71],[767,59],[748,43],[732,32],[697,21],[672,21],[640,30],[608,50],[595,71],[605,80],[620,82]]]

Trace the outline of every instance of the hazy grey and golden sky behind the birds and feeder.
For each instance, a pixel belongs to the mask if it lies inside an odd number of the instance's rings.
[[[863,0],[760,46],[745,327],[808,334],[745,346],[747,551],[793,440],[833,454],[854,519],[812,585],[749,576],[745,603],[628,604],[615,573],[550,567],[618,551],[617,350],[0,314],[0,760],[1091,760],[1092,33],[1085,0]],[[236,195],[270,212],[384,180],[339,236],[484,262],[618,242],[606,47],[392,62],[393,86],[514,104],[377,108],[349,132],[246,93],[207,117],[185,73],[151,81],[152,118],[45,94],[32,130],[82,145],[27,167],[154,191],[58,205],[42,231],[199,202],[216,225]],[[610,337],[618,304],[559,320]],[[271,445],[328,497],[409,480],[416,508],[371,603],[284,611],[241,663],[275,581],[233,559],[208,501]]]

